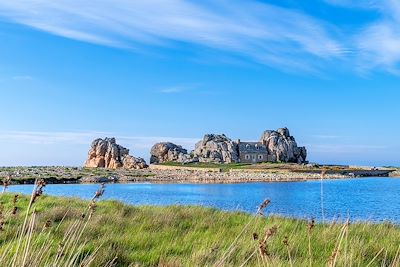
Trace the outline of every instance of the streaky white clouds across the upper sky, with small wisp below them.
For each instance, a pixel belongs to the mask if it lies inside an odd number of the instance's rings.
[[[212,51],[214,60],[257,62],[285,71],[319,72],[338,60],[353,70],[400,75],[398,0],[323,1],[378,16],[349,31],[300,10],[256,0],[26,0],[0,1],[0,17],[124,49],[180,49],[189,44],[196,52]]]

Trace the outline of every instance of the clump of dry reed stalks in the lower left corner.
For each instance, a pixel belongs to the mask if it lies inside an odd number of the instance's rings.
[[[94,206],[98,199],[104,193],[104,184],[101,188],[96,191],[94,197],[92,198],[89,207],[86,209],[86,219],[78,219],[69,225],[69,228],[64,234],[63,240],[60,244],[60,249],[55,255],[54,259],[51,260],[50,253],[51,247],[55,244],[53,240],[50,239],[50,234],[55,229],[57,231],[60,225],[64,222],[66,215],[69,210],[64,214],[60,223],[56,228],[51,227],[51,221],[46,221],[41,231],[37,234],[34,233],[35,222],[36,222],[36,211],[33,209],[31,213],[33,204],[39,196],[43,194],[43,188],[45,183],[43,181],[35,181],[35,186],[33,188],[31,198],[27,207],[26,214],[23,217],[22,226],[19,227],[15,236],[15,251],[13,251],[13,242],[10,242],[7,247],[3,250],[2,255],[0,255],[0,262],[4,263],[7,260],[8,255],[9,264],[7,266],[89,266],[95,259],[101,246],[98,246],[93,252],[88,252],[82,254],[83,249],[87,241],[81,241],[82,235],[85,232],[86,226],[90,221],[90,217],[94,212]],[[15,210],[16,202],[18,196],[15,195],[13,199],[13,210]],[[11,212],[10,214],[15,215],[16,212]],[[0,214],[1,215],[1,214]],[[1,217],[1,216],[0,216]],[[48,231],[47,231],[48,230]],[[46,233],[47,231],[47,233]],[[44,238],[42,240],[41,238]],[[40,243],[36,243],[36,240],[42,240]],[[51,263],[52,261],[52,263]],[[4,266],[4,265],[3,265]]]

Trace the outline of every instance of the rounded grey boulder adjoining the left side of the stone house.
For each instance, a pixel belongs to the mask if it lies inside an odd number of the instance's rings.
[[[199,162],[233,163],[239,162],[237,143],[224,134],[206,134],[196,144],[193,155]]]

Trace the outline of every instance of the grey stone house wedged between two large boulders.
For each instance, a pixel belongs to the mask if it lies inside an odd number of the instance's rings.
[[[267,147],[261,142],[237,141],[239,160],[242,163],[259,163],[272,161]]]

